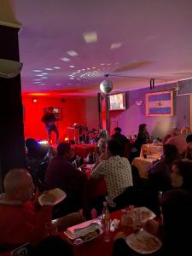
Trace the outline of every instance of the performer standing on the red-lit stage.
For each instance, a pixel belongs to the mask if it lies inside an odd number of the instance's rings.
[[[53,113],[54,108],[49,107],[47,113],[44,113],[41,121],[45,124],[47,133],[48,133],[48,139],[49,143],[51,143],[51,131],[55,132],[56,136],[56,143],[59,143],[59,131],[55,125],[55,121],[58,121],[59,118],[55,116],[55,113]]]

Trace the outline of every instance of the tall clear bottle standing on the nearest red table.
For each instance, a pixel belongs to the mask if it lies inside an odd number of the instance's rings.
[[[104,233],[103,241],[110,241],[110,214],[108,212],[108,202],[103,202],[102,209],[102,230]]]

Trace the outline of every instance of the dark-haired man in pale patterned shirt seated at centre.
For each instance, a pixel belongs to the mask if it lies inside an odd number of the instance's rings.
[[[118,141],[109,140],[108,151],[100,156],[90,173],[90,177],[92,178],[104,177],[108,190],[106,200],[111,210],[116,207],[116,198],[125,189],[133,186],[130,162],[125,157],[119,156],[120,150]],[[102,201],[105,201],[104,197],[101,198],[101,201],[98,201],[98,205],[96,206],[98,214],[102,212]]]

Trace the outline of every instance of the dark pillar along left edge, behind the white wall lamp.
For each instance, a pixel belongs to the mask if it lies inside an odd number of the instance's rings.
[[[0,25],[0,59],[20,61],[19,28]],[[0,78],[1,88],[1,155],[0,190],[3,177],[9,169],[25,166],[25,139],[21,102],[20,75],[14,79]]]

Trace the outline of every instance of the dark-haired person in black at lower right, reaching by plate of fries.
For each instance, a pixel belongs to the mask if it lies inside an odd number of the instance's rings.
[[[150,219],[144,228],[162,237],[163,245],[157,255],[188,256],[192,254],[189,234],[192,229],[191,161],[178,160],[172,165],[172,185],[174,189],[166,191],[160,199],[163,225]],[[133,255],[123,233],[118,233],[113,242],[113,256],[118,255]]]

